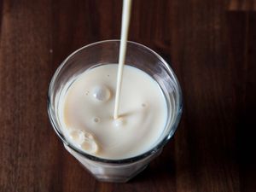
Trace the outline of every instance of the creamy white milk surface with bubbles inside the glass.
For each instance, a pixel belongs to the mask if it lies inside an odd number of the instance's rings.
[[[113,119],[117,64],[80,74],[61,96],[61,131],[85,153],[109,160],[147,152],[164,132],[167,107],[159,84],[147,73],[125,65],[119,118]],[[65,89],[64,89],[65,90]]]

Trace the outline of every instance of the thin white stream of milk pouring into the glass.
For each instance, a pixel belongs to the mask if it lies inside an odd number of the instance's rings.
[[[121,41],[119,47],[119,69],[117,74],[117,85],[115,93],[115,102],[114,102],[114,112],[113,119],[119,118],[119,100],[120,100],[120,91],[122,86],[123,79],[123,68],[125,65],[125,53],[126,53],[126,44],[129,31],[131,15],[131,0],[123,1],[123,13],[122,13],[122,29],[121,29]]]

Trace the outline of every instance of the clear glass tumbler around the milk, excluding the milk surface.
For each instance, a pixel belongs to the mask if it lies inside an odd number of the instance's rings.
[[[86,154],[68,142],[61,131],[60,96],[65,84],[90,67],[118,63],[119,40],[107,40],[89,44],[69,55],[57,68],[49,84],[48,113],[50,122],[67,151],[98,180],[106,182],[126,182],[142,172],[148,163],[160,154],[164,145],[171,139],[177,129],[182,113],[182,92],[175,74],[166,61],[143,44],[127,43],[125,64],[137,67],[148,73],[159,85],[166,97],[168,118],[165,131],[154,148],[135,157],[124,160],[107,160]]]

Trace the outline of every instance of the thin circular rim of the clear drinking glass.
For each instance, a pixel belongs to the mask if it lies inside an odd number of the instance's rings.
[[[61,141],[64,144],[66,144],[69,148],[72,148],[73,151],[79,153],[80,155],[83,155],[84,157],[88,158],[89,160],[93,160],[93,161],[97,161],[97,162],[101,162],[101,163],[128,164],[128,163],[136,162],[136,161],[139,161],[139,160],[143,160],[144,158],[150,156],[151,154],[155,154],[158,150],[160,150],[160,148],[165,146],[165,144],[172,138],[175,131],[177,130],[177,124],[180,121],[181,114],[182,114],[182,111],[183,111],[182,90],[181,90],[180,84],[177,80],[176,74],[172,71],[172,68],[169,66],[169,64],[159,54],[157,54],[153,49],[150,49],[150,48],[148,48],[147,46],[145,46],[143,44],[139,44],[139,43],[133,42],[133,41],[127,41],[127,44],[136,44],[137,46],[143,47],[143,49],[147,49],[150,53],[154,54],[157,57],[157,59],[159,59],[164,64],[164,66],[166,67],[168,72],[172,74],[172,78],[174,80],[174,83],[177,85],[177,92],[178,92],[177,101],[178,101],[179,105],[178,105],[178,108],[177,108],[177,113],[176,113],[176,116],[175,116],[175,120],[173,121],[173,125],[172,125],[173,129],[171,128],[170,131],[168,131],[166,133],[166,136],[163,137],[160,140],[160,142],[155,143],[154,147],[150,148],[148,151],[144,152],[143,154],[138,154],[136,156],[125,158],[125,159],[114,160],[114,159],[104,159],[104,158],[101,158],[101,157],[94,156],[92,154],[85,153],[84,151],[75,147],[72,143],[68,142],[66,137],[61,133],[60,128],[58,128],[58,125],[56,124],[55,119],[53,118],[52,113],[54,113],[55,110],[52,108],[52,104],[51,104],[52,101],[50,99],[51,95],[52,95],[52,92],[53,92],[55,79],[57,79],[57,77],[58,77],[58,75],[61,71],[61,68],[67,63],[67,61],[73,55],[76,55],[79,51],[81,51],[83,49],[89,48],[89,47],[97,45],[97,44],[105,44],[105,43],[113,43],[113,42],[120,42],[120,40],[119,39],[102,40],[102,41],[98,41],[98,42],[95,42],[95,43],[84,45],[83,47],[73,51],[73,53],[68,55],[67,58],[64,61],[61,62],[61,65],[59,67],[57,67],[57,69],[55,70],[55,73],[54,73],[54,75],[51,78],[50,83],[49,83],[49,90],[48,90],[48,96],[47,96],[47,111],[48,111],[49,121],[50,121],[53,129],[55,130],[55,133],[57,134],[58,137],[61,138]],[[170,118],[170,117],[168,116],[168,118]],[[166,124],[165,127],[171,126],[170,123],[171,122]]]

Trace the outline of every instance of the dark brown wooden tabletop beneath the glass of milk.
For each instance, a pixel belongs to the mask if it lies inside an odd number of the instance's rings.
[[[101,183],[49,124],[49,81],[67,55],[119,38],[121,1],[0,0],[0,191],[256,191],[256,1],[135,0],[130,39],[177,73],[172,141],[129,183]]]

